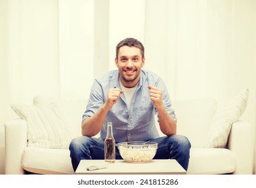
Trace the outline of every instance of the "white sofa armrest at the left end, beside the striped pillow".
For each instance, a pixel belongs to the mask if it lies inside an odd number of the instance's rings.
[[[5,122],[5,174],[24,174],[22,156],[27,146],[27,122],[22,119]]]

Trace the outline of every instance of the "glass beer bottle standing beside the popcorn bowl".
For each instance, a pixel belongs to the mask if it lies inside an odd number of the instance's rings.
[[[108,122],[106,130],[106,138],[104,141],[105,149],[105,161],[106,162],[115,162],[116,150],[115,150],[115,138],[113,136],[112,122]]]

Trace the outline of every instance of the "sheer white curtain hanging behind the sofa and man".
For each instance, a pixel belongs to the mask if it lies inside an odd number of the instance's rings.
[[[242,119],[256,124],[254,0],[0,0],[0,15],[1,125],[9,103],[34,95],[87,99],[127,37],[143,42],[145,68],[172,99],[222,106],[248,87]]]

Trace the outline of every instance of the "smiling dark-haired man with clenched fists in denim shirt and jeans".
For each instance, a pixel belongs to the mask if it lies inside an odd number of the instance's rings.
[[[157,62],[159,63],[159,62]],[[113,123],[116,142],[158,142],[155,159],[176,159],[187,171],[191,144],[177,135],[177,118],[162,79],[145,64],[144,47],[134,38],[117,44],[115,64],[94,81],[82,117],[82,136],[69,146],[74,171],[82,159],[104,159],[104,139],[108,122]],[[158,118],[159,125],[155,124]],[[159,137],[156,126],[166,135]],[[100,132],[100,138],[94,138]],[[122,159],[116,148],[116,158]]]

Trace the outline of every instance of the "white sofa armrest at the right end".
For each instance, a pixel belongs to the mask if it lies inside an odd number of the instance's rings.
[[[236,158],[234,174],[253,174],[253,142],[253,130],[249,122],[238,121],[232,124],[227,147]]]

